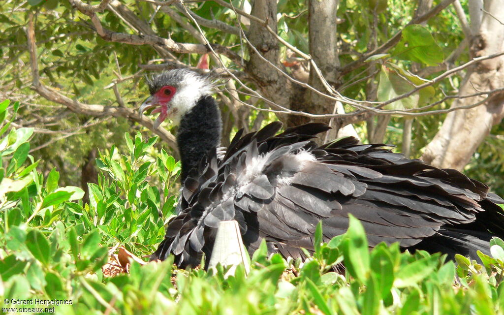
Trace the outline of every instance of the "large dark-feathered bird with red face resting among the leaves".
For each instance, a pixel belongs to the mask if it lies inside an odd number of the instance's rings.
[[[360,144],[349,137],[318,145],[328,125],[286,128],[272,122],[257,132],[236,133],[217,154],[220,110],[207,75],[188,69],[156,74],[140,114],[170,117],[181,161],[176,215],[151,260],[174,256],[180,268],[210,257],[219,222],[236,220],[250,255],[263,240],[268,253],[306,258],[322,222],[323,240],[346,232],[349,215],[362,223],[368,245],[399,242],[477,257],[488,240],[504,236],[499,196],[454,169],[440,169],[394,153],[390,145]],[[304,248],[305,250],[303,250]]]

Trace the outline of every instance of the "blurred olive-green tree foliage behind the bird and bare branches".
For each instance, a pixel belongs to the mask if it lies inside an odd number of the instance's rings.
[[[248,2],[237,1],[232,4],[244,10],[250,6]],[[465,1],[460,4],[468,15],[469,4]],[[146,134],[152,131],[141,128],[129,117],[75,113],[72,108],[48,101],[31,90],[32,76],[26,36],[29,13],[35,13],[37,62],[43,84],[82,103],[135,108],[147,95],[143,76],[148,75],[152,69],[158,71],[183,65],[194,67],[201,54],[174,54],[155,45],[128,45],[104,40],[96,33],[89,17],[76,10],[74,5],[73,2],[57,0],[5,2],[0,12],[0,23],[3,29],[0,43],[2,43],[2,62],[5,65],[2,79],[0,79],[0,92],[4,99],[20,101],[19,113],[14,123],[18,126],[35,128],[31,140],[33,143],[31,153],[35,158],[44,161],[39,166],[40,170],[47,174],[50,169],[57,167],[61,173],[62,184],[79,185],[86,190],[86,180],[80,183],[82,169],[87,162],[90,160],[92,162],[94,159],[96,152],[93,150],[96,148],[103,150],[112,144],[122,146],[119,139],[122,139],[124,132],[130,132],[133,135],[136,130]],[[434,5],[436,3],[432,4]],[[374,6],[377,6],[376,10]],[[394,0],[341,1],[336,21],[340,64],[342,66],[351,64],[370,49],[386,42],[398,30],[407,29],[406,17],[418,15],[416,11],[420,10],[420,6],[421,2]],[[277,5],[278,34],[304,53],[309,53],[309,29],[306,23],[309,14],[308,7],[309,3],[304,1],[280,1]],[[198,42],[199,37],[195,34],[196,26],[190,25],[191,19],[183,15],[184,10],[179,5],[158,8],[149,2],[133,1],[111,2],[108,8],[100,14],[99,18],[103,26],[111,31],[135,35],[139,33],[139,29],[147,26],[150,31],[142,29],[143,33],[152,32],[162,37],[169,35],[169,38],[177,43]],[[250,24],[250,21],[247,22],[242,18],[241,25],[238,25],[236,14],[232,9],[211,1],[187,3],[185,8],[203,19],[220,21],[235,29],[241,26],[247,30]],[[129,17],[132,14],[136,19]],[[399,42],[389,51],[389,56],[368,62],[364,64],[364,67],[338,78],[335,84],[339,87],[339,91],[345,97],[355,100],[387,100],[396,95],[394,93],[398,92],[397,85],[405,85],[404,82],[399,82],[394,86],[392,81],[397,79],[397,71],[393,67],[400,67],[425,79],[432,79],[443,72],[439,70],[443,68],[440,66],[449,64],[450,68],[453,68],[471,59],[467,48],[468,39],[463,31],[464,25],[457,18],[455,5],[446,7],[423,25],[425,31],[423,29],[420,29],[422,32],[416,31],[421,33],[422,40],[431,38],[430,46],[422,47],[421,53],[408,50],[401,52],[401,45],[404,42]],[[239,34],[205,26],[202,26],[202,29],[210,42],[230,47],[230,51],[240,55],[245,63],[250,58],[245,40]],[[415,36],[415,34],[412,32],[410,36]],[[289,50],[280,45],[280,60],[292,60],[289,56]],[[250,73],[246,69],[240,68],[226,56],[221,55],[221,57],[227,67],[235,69],[238,78],[242,78],[250,88],[259,91],[257,80],[251,80]],[[433,69],[436,65],[438,69]],[[210,66],[219,67],[216,59],[210,60]],[[249,64],[249,66],[254,65]],[[388,79],[392,80],[392,85],[387,85],[387,77],[383,74],[384,71],[390,69],[392,73],[389,74]],[[242,72],[243,70],[245,71]],[[287,71],[295,77],[294,68],[287,68]],[[464,71],[457,72],[440,81],[428,91],[429,99],[439,100],[444,94],[457,92],[463,76]],[[230,82],[235,83],[234,80]],[[243,92],[243,88],[239,85],[236,88],[238,92]],[[394,89],[396,89],[395,92]],[[251,98],[244,94],[233,94],[228,89],[223,90],[223,93],[218,95],[224,112],[223,145],[229,142],[236,128],[244,127],[247,130],[254,130],[271,119],[277,119],[272,113],[250,109],[234,101],[233,97],[238,97],[240,101],[258,108],[270,108],[261,99]],[[440,102],[434,109],[450,108],[452,102],[453,99]],[[390,104],[388,108],[405,105],[416,107],[428,103],[430,101],[427,100],[412,103],[411,100],[406,99]],[[347,111],[352,110],[351,107],[346,106]],[[322,105],[314,109],[315,112],[320,110],[323,110]],[[284,116],[280,115],[280,118],[286,119]],[[414,119],[411,126],[411,134],[414,137],[405,143],[406,147],[403,147],[405,119],[401,115],[389,116],[388,119],[382,120],[380,120],[381,117],[370,117],[367,120],[357,121],[354,127],[363,142],[372,140],[397,144],[399,152],[409,151],[409,155],[416,158],[422,155],[423,148],[433,139],[445,116],[445,114],[425,115]],[[376,129],[380,124],[386,127],[385,134],[383,137],[372,137],[370,134],[373,131],[372,125]],[[170,125],[165,127],[171,133],[175,133]],[[502,182],[504,170],[503,153],[499,148],[502,146],[503,133],[501,123],[497,123],[491,130],[490,136],[485,138],[465,167],[468,175],[490,184],[493,190],[501,195],[504,194],[504,188],[502,188],[504,187]],[[158,143],[156,146],[160,149],[161,144]],[[166,149],[175,157],[177,156],[176,151],[173,151],[174,148],[167,147]]]

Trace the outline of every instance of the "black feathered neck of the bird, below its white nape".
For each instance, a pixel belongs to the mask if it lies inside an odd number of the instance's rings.
[[[220,144],[222,130],[219,107],[212,96],[201,97],[181,119],[177,133],[183,183],[192,168]]]

